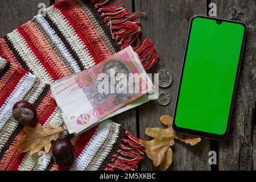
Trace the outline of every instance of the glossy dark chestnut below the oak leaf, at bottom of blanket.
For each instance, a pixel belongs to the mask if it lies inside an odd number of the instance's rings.
[[[68,139],[56,140],[52,147],[55,164],[59,167],[70,168],[76,159],[75,148]]]

